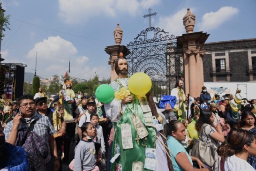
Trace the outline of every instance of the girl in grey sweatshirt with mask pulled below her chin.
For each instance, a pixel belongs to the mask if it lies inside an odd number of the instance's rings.
[[[81,127],[82,140],[75,147],[74,171],[99,171],[96,166],[96,149],[92,139],[96,136],[96,128],[86,122]]]

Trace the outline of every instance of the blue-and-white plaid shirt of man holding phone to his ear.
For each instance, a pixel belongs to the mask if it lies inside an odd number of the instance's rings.
[[[32,120],[30,123],[35,121],[36,123],[33,126],[33,129],[31,131],[37,133],[39,136],[41,136],[46,143],[46,146],[48,148],[48,153],[51,154],[50,150],[50,145],[49,145],[49,135],[56,134],[57,132],[53,128],[50,119],[47,116],[40,115],[38,113],[35,113],[32,116]],[[30,124],[27,124],[24,120],[21,120],[21,123],[18,127],[18,132],[23,131],[23,130],[28,130]],[[11,133],[13,127],[13,121],[9,122],[5,128],[4,128],[4,134],[5,134],[5,139],[9,137],[9,134]],[[48,155],[47,158],[45,159],[45,162],[48,163],[51,160],[52,156]]]

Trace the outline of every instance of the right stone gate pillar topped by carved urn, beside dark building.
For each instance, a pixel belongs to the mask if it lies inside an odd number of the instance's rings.
[[[203,44],[209,37],[209,34],[193,32],[196,22],[196,16],[189,11],[183,17],[183,24],[186,34],[177,37],[177,43],[183,47],[183,65],[185,93],[190,97],[199,97],[203,87],[203,60],[205,54]]]

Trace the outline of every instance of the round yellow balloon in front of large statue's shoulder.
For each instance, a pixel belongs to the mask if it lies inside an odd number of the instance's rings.
[[[150,77],[145,73],[135,73],[128,81],[128,89],[137,96],[147,94],[152,86]]]

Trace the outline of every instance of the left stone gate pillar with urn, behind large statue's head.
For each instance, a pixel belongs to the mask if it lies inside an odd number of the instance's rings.
[[[119,24],[117,24],[114,30],[114,39],[116,45],[107,46],[105,52],[110,55],[108,65],[110,65],[110,81],[113,82],[114,79],[118,77],[114,70],[114,63],[117,58],[124,57],[128,54],[128,49],[124,45],[120,45],[122,41],[123,30],[120,29]]]

